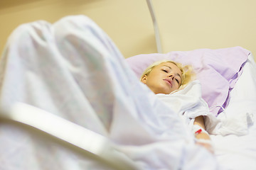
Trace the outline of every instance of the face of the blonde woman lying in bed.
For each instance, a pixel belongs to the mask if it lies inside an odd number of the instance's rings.
[[[181,74],[176,64],[163,62],[154,67],[148,75],[144,75],[142,83],[154,94],[170,94],[181,86]]]

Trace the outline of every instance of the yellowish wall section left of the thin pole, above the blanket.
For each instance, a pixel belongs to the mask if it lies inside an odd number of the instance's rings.
[[[154,28],[146,0],[0,0],[0,52],[21,23],[83,14],[114,40],[124,57],[156,52]]]

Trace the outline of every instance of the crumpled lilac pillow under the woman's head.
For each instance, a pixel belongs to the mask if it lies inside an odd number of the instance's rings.
[[[144,69],[158,60],[173,60],[182,64],[191,64],[196,77],[201,81],[202,97],[208,103],[210,112],[218,115],[220,106],[228,104],[228,94],[242,73],[250,51],[242,47],[229,47],[218,50],[198,49],[176,51],[166,54],[136,55],[127,58],[127,62],[139,78]]]

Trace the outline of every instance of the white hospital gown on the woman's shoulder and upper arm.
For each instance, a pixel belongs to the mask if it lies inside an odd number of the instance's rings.
[[[200,81],[191,81],[184,89],[171,94],[156,94],[171,111],[177,113],[183,122],[192,129],[196,117],[203,115],[206,130],[211,130],[219,123],[219,120],[210,113],[208,104],[203,100]]]

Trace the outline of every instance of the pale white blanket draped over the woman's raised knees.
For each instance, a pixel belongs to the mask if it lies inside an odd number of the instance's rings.
[[[109,137],[142,169],[219,169],[85,16],[24,24],[0,63],[1,106],[42,108]],[[0,124],[0,169],[107,169],[37,130]]]

